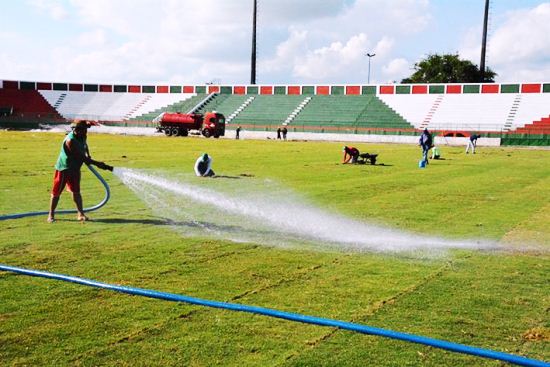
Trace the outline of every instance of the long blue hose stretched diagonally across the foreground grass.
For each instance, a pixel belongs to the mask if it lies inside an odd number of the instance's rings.
[[[221,308],[221,309],[232,310],[232,311],[249,312],[249,313],[276,317],[276,318],[285,319],[285,320],[303,322],[306,324],[335,327],[335,328],[344,329],[344,330],[356,331],[362,334],[376,335],[376,336],[382,336],[385,338],[424,344],[435,348],[446,349],[451,352],[470,354],[470,355],[489,358],[489,359],[496,359],[496,360],[516,364],[519,366],[535,366],[535,367],[550,366],[550,363],[546,363],[544,361],[520,357],[513,354],[497,352],[490,349],[476,348],[476,347],[471,347],[464,344],[451,343],[445,340],[427,338],[424,336],[419,336],[414,334],[406,334],[406,333],[401,333],[401,332],[387,330],[387,329],[375,328],[367,325],[355,324],[351,322],[301,315],[301,314],[278,311],[278,310],[273,310],[273,309],[268,309],[263,307],[211,301],[211,300],[183,296],[183,295],[178,295],[173,293],[158,292],[158,291],[143,289],[143,288],[124,287],[124,286],[119,286],[114,284],[101,283],[91,279],[78,278],[78,277],[73,277],[73,276],[63,275],[63,274],[48,273],[44,271],[17,268],[17,267],[8,266],[8,265],[2,265],[2,264],[0,264],[0,270],[10,271],[17,274],[35,276],[35,277],[62,280],[66,282],[87,285],[90,287],[103,288],[103,289],[108,289],[116,292],[133,294],[137,296],[164,299],[164,300],[175,301],[175,302],[185,302],[185,303],[190,303],[194,305]]]

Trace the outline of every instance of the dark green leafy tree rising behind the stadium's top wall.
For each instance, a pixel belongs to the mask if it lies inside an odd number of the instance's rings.
[[[460,60],[458,54],[428,55],[414,64],[413,75],[401,81],[410,83],[479,83],[481,72],[477,65],[469,60]],[[483,82],[494,82],[497,74],[491,69],[485,70]]]

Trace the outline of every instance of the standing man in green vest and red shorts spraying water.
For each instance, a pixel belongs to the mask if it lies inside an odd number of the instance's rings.
[[[86,135],[88,133],[88,122],[75,120],[71,124],[72,131],[67,134],[61,145],[61,152],[55,164],[55,174],[50,200],[50,212],[48,222],[55,221],[55,208],[59,203],[59,197],[67,186],[67,191],[73,194],[73,201],[76,204],[77,219],[86,221],[88,217],[82,208],[82,196],[80,195],[80,168],[83,163],[93,164],[101,169],[112,169],[103,162],[94,161],[90,156]]]

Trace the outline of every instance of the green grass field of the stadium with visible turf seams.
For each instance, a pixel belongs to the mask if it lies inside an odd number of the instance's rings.
[[[0,132],[0,215],[46,210],[61,134]],[[90,135],[95,159],[194,185],[275,182],[363,222],[505,251],[280,248],[185,236],[111,173],[111,201],[74,215],[0,221],[0,263],[256,305],[550,360],[550,150],[483,148],[417,166],[412,145],[358,144],[383,166],[342,165],[342,143]],[[241,176],[246,175],[246,176]],[[103,190],[83,169],[85,204]],[[271,192],[276,197],[278,192]],[[243,198],[245,200],[246,198]],[[63,194],[60,208],[72,208]],[[320,224],[322,225],[322,224]],[[523,250],[528,248],[528,250]],[[0,272],[7,366],[500,366],[501,362],[269,317]]]

